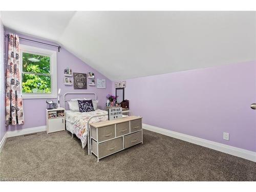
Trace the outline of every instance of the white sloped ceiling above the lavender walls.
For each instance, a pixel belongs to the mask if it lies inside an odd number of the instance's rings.
[[[255,60],[255,12],[1,12],[5,27],[58,42],[111,80]]]

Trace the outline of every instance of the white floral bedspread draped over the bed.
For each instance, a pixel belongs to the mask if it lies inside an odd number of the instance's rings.
[[[104,115],[108,114],[108,112],[97,109],[92,112],[84,112],[80,113],[74,111],[66,111],[66,121],[74,124],[73,130],[71,131],[73,134],[81,140],[82,148],[84,148],[87,144],[87,122],[88,120],[95,115]],[[98,121],[106,121],[108,120],[108,116],[95,117],[90,120],[90,123],[98,122]]]

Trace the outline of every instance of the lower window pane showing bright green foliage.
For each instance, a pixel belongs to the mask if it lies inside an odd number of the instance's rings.
[[[51,93],[51,76],[22,74],[23,93]]]

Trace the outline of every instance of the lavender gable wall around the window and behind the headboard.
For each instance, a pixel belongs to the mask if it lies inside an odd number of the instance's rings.
[[[49,44],[54,44],[53,42],[36,39],[34,37],[22,35],[17,32],[14,32],[14,31],[10,31],[10,30],[5,31],[5,33],[9,33],[9,32],[18,34],[20,37],[29,38],[32,40],[39,40],[39,41],[47,42]],[[7,43],[8,42],[6,42],[6,44]],[[66,92],[95,92],[97,94],[97,97],[99,100],[99,103],[98,103],[99,109],[104,109],[105,102],[106,102],[105,97],[107,94],[111,93],[111,81],[108,78],[106,78],[104,75],[100,74],[93,68],[91,68],[89,65],[87,65],[87,63],[84,63],[83,61],[81,61],[80,59],[75,57],[73,54],[68,52],[66,49],[62,48],[60,50],[60,52],[58,52],[58,50],[56,48],[37,44],[35,42],[26,41],[26,40],[22,40],[22,39],[20,39],[20,44],[57,51],[57,88],[61,89],[61,96],[60,96],[60,105],[61,106],[62,106],[63,93],[66,93]],[[95,82],[96,82],[97,78],[106,79],[106,89],[97,89],[96,86],[91,87],[91,86],[87,85],[87,90],[74,90],[73,86],[65,86],[63,84],[63,79],[64,79],[63,74],[64,74],[64,69],[66,69],[67,67],[70,67],[73,72],[80,72],[80,73],[87,73],[88,71],[94,72]],[[72,79],[72,82],[73,82],[73,79]],[[83,98],[83,96],[82,96],[82,98]],[[57,102],[57,99],[53,99],[53,100],[55,102]],[[7,127],[8,131],[14,131],[14,130],[20,130],[20,129],[26,129],[26,128],[30,128],[30,127],[46,125],[46,114],[45,114],[46,108],[47,108],[46,99],[24,99],[23,102],[24,102],[25,123],[23,125],[9,126],[9,127]]]

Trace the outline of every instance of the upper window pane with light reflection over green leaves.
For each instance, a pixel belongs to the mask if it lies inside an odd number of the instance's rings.
[[[22,54],[24,72],[50,74],[50,57],[31,53]]]

